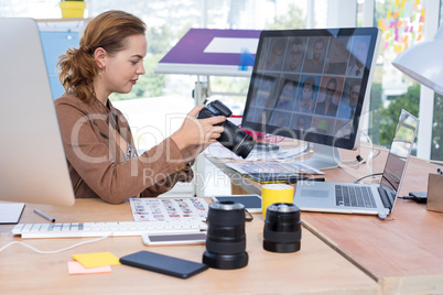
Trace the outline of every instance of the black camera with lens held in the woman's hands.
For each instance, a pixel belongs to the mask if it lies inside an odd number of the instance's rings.
[[[197,119],[205,119],[215,116],[224,116],[228,118],[231,114],[233,112],[229,110],[228,107],[226,107],[219,100],[214,100],[209,102],[204,109],[202,109],[202,111],[197,116]],[[256,146],[255,140],[241,128],[234,124],[229,120],[226,120],[218,125],[223,125],[225,128],[225,131],[220,134],[217,141],[236,155],[246,159]]]

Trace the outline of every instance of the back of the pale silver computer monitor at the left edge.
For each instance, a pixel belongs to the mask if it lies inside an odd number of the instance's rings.
[[[37,25],[0,18],[0,200],[73,205]]]

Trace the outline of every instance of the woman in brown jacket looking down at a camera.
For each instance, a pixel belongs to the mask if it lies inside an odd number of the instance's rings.
[[[71,179],[77,198],[100,197],[120,204],[130,197],[158,196],[193,176],[191,163],[216,141],[226,120],[197,120],[194,108],[182,127],[138,155],[128,122],[112,107],[112,92],[131,91],[144,74],[145,24],[123,11],[91,20],[79,48],[61,56],[60,80],[66,92],[55,100]]]

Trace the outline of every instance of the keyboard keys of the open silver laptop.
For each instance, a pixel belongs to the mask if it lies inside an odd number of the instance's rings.
[[[335,186],[337,206],[376,208],[372,192],[368,186]]]

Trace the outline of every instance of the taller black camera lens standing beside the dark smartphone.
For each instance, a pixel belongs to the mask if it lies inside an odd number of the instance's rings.
[[[245,250],[245,206],[235,201],[210,204],[203,263],[213,269],[241,269],[248,264]]]

